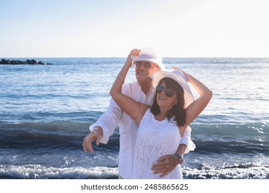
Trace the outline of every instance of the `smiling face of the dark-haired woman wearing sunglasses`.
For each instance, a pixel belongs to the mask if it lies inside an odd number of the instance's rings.
[[[158,89],[159,88],[159,89]],[[175,90],[166,88],[166,83],[163,82],[157,86],[157,104],[160,108],[172,108],[177,101],[177,94]]]

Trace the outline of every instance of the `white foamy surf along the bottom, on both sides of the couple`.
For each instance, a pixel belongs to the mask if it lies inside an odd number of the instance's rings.
[[[248,163],[197,168],[183,167],[183,179],[269,179],[269,165]],[[117,167],[45,167],[0,165],[0,179],[117,179]]]

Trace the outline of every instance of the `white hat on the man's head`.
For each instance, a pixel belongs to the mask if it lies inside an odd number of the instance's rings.
[[[163,65],[163,59],[159,56],[159,54],[152,48],[142,48],[139,52],[138,57],[132,56],[132,62],[136,61],[150,61],[159,65],[161,70],[166,70],[166,67]]]

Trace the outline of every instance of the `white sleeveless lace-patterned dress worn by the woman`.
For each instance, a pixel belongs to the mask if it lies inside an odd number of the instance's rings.
[[[148,109],[137,131],[132,179],[160,179],[151,167],[159,157],[175,154],[181,136],[175,121],[157,121]],[[180,165],[161,179],[182,179]]]

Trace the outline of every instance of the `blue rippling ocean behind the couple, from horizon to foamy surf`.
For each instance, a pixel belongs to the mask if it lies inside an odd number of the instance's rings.
[[[18,59],[26,60],[26,59]],[[125,58],[41,58],[0,65],[0,179],[117,179],[118,129],[83,152]],[[269,59],[164,58],[214,95],[190,125],[183,179],[269,179]],[[135,81],[135,69],[126,82]],[[197,93],[194,92],[197,96]]]

